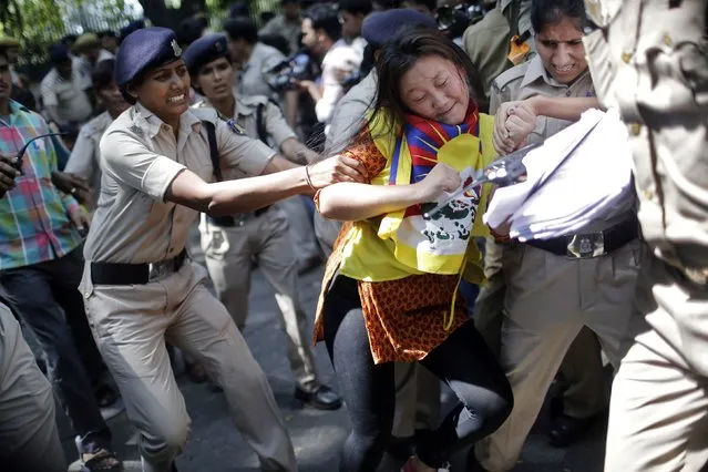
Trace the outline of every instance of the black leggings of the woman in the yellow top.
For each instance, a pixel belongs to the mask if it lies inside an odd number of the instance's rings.
[[[373,363],[353,279],[338,276],[327,294],[325,341],[352,425],[339,470],[371,472],[391,438],[396,386],[393,363]],[[419,459],[439,468],[455,450],[502,425],[512,410],[513,396],[472,322],[458,328],[420,363],[448,383],[461,401],[440,428],[417,445]]]

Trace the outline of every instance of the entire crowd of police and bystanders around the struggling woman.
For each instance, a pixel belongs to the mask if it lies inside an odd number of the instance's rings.
[[[222,28],[196,16],[68,35],[39,89],[19,73],[21,43],[0,38],[8,470],[66,470],[55,391],[82,471],[123,468],[112,406],[143,470],[176,471],[191,428],[182,351],[260,469],[296,471],[242,335],[255,269],[277,301],[294,398],[347,409],[342,472],[373,472],[386,453],[402,472],[449,471],[461,450],[470,472],[512,470],[547,392],[555,447],[609,411],[606,472],[705,470],[706,2],[280,10],[261,24],[238,3]],[[577,234],[522,243],[484,224],[491,184],[454,193],[608,107],[627,125],[637,192]],[[298,278],[322,263],[312,317]],[[441,383],[458,400],[444,415]]]

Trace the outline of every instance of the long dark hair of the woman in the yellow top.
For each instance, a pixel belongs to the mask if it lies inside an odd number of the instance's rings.
[[[449,60],[464,71],[470,90],[470,99],[474,100],[480,112],[489,110],[484,94],[482,78],[465,52],[442,32],[427,27],[412,25],[399,31],[386,42],[376,62],[378,74],[378,92],[373,104],[373,114],[386,112],[396,126],[403,122],[408,112],[401,98],[401,78],[413,68],[415,62],[427,55],[437,55]]]

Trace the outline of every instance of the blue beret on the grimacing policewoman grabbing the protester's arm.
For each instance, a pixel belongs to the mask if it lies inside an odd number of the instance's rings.
[[[157,65],[182,58],[175,32],[167,28],[145,28],[129,34],[115,57],[115,84],[130,103],[135,99],[126,93],[126,85]]]

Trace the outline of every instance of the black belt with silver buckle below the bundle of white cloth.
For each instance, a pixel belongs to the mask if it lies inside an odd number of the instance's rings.
[[[562,236],[552,239],[531,239],[526,244],[556,256],[572,259],[599,257],[619,249],[639,236],[636,215],[603,232]]]

